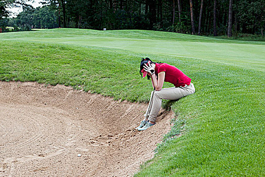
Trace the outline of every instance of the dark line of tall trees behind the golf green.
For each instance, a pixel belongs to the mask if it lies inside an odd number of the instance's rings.
[[[232,36],[238,33],[263,35],[265,25],[265,0],[43,0],[43,2],[46,5],[42,8],[25,8],[16,18],[17,20],[13,19],[13,23],[16,25],[27,23],[34,27],[45,28],[147,29],[214,36]],[[32,20],[29,20],[29,14]],[[45,22],[40,19],[36,22],[36,18],[40,16],[42,19],[45,18]],[[22,19],[28,20],[26,22]]]

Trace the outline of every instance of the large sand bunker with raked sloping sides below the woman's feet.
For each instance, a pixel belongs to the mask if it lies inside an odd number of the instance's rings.
[[[137,131],[146,108],[62,85],[0,82],[0,176],[132,176],[173,117],[162,110]]]

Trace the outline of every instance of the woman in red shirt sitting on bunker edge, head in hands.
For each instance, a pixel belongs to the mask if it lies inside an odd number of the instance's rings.
[[[178,100],[195,93],[191,78],[186,76],[180,69],[167,63],[154,63],[149,58],[142,59],[140,74],[142,77],[147,75],[147,79],[151,78],[154,93],[151,94],[149,109],[144,114],[145,119],[136,128],[138,130],[145,130],[155,124],[162,99]],[[162,89],[164,81],[174,84],[174,87]],[[147,117],[148,120],[146,120]]]

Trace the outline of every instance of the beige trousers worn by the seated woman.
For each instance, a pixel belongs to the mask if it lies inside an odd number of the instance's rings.
[[[154,94],[153,92],[151,93],[151,97],[153,94],[153,99],[150,98],[148,105],[148,107],[150,106],[150,109],[146,110],[144,116],[147,116],[149,121],[155,122],[158,112],[161,109],[162,99],[178,100],[194,93],[195,87],[193,83],[190,83],[190,85],[186,85],[184,87],[171,87],[162,89],[160,91],[154,91]]]

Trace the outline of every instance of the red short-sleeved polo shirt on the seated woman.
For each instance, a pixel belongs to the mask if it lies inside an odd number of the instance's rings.
[[[155,73],[165,71],[165,82],[173,83],[176,87],[189,85],[191,78],[186,76],[180,69],[167,63],[155,63]]]

